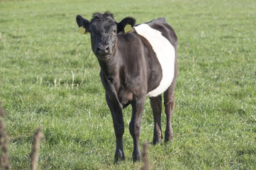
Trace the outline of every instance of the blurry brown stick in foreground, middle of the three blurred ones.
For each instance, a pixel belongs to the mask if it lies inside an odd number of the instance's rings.
[[[30,170],[35,170],[38,167],[39,143],[41,138],[43,138],[43,133],[41,132],[41,129],[38,127],[38,129],[35,131],[35,134],[33,135],[33,145],[30,154]]]

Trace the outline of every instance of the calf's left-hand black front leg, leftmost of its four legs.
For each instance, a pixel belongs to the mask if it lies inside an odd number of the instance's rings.
[[[113,128],[116,134],[116,154],[115,161],[123,161],[125,159],[123,153],[123,132],[124,132],[124,124],[123,124],[123,113],[120,106],[113,103],[108,95],[106,94],[106,102],[108,103],[108,108],[111,111],[112,119],[113,119]]]

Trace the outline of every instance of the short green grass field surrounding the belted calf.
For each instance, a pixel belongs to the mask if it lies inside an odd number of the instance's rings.
[[[256,1],[0,1],[0,100],[11,169],[28,169],[40,125],[38,169],[140,169],[124,110],[126,161],[116,141],[89,35],[75,17],[165,17],[179,39],[174,140],[148,150],[152,169],[256,169]],[[72,85],[73,82],[73,85]],[[147,99],[140,145],[152,142]],[[162,129],[165,114],[162,113]]]

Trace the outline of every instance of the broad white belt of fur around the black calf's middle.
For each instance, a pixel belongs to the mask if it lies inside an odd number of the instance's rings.
[[[159,86],[147,94],[147,96],[155,97],[165,92],[172,84],[174,77],[175,50],[171,42],[162,36],[159,30],[151,28],[148,24],[140,24],[135,27],[135,30],[150,42],[162,68],[162,79]]]

